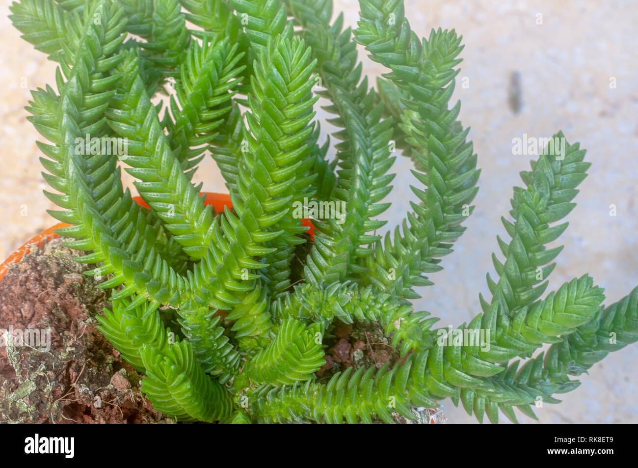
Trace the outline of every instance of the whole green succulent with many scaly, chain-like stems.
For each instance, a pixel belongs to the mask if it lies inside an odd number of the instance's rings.
[[[38,146],[61,208],[51,214],[110,290],[100,329],[145,374],[158,411],[392,422],[449,397],[479,421],[499,410],[516,421],[515,407],[535,417],[535,402],[557,402],[579,384],[570,376],[638,339],[638,290],[605,307],[584,275],[542,298],[561,250],[545,244],[567,227],[589,167],[562,133],[521,174],[491,298],[459,327],[487,343],[452,339],[413,311],[415,288],[432,284],[425,275],[464,231],[479,170],[449,105],[461,38],[420,39],[403,1],[360,0],[354,31],[330,0],[22,0],[11,11],[59,63],[57,90],[33,91],[27,107],[49,141]],[[388,69],[376,89],[356,43]],[[170,87],[168,101],[151,100]],[[314,120],[320,96],[341,129],[332,161]],[[121,140],[126,151],[105,149]],[[417,200],[382,238],[394,147],[414,162]],[[206,151],[232,199],[219,213],[191,182]],[[118,160],[150,208],[122,188]],[[295,210],[306,204],[343,209],[311,210],[311,237]],[[377,322],[400,358],[319,381],[337,321]]]

